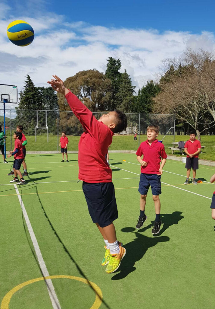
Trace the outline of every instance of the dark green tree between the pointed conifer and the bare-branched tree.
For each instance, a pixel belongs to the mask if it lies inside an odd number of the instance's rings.
[[[138,91],[131,107],[131,112],[140,114],[149,114],[152,112],[153,98],[159,93],[160,87],[151,79],[147,81],[146,86]]]

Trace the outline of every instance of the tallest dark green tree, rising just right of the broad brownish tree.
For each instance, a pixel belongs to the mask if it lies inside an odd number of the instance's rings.
[[[114,110],[117,106],[120,105],[119,98],[116,94],[119,91],[121,76],[122,73],[119,72],[121,68],[120,59],[114,59],[109,57],[107,59],[107,69],[105,71],[106,78],[111,80],[111,96],[110,96],[110,105],[108,106],[108,110]]]

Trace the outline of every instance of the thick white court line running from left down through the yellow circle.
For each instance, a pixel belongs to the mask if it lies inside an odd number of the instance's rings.
[[[42,253],[40,251],[39,244],[37,242],[37,239],[36,239],[36,236],[34,234],[33,228],[31,226],[31,222],[30,222],[30,220],[28,218],[25,206],[23,204],[23,200],[21,198],[21,195],[19,193],[19,190],[18,190],[16,184],[14,184],[14,187],[15,187],[18,199],[19,199],[20,206],[22,208],[22,212],[23,212],[23,215],[24,215],[24,218],[25,218],[25,222],[27,224],[27,228],[28,228],[29,234],[31,236],[31,241],[32,241],[34,249],[35,249],[35,253],[36,253],[36,256],[37,256],[37,260],[38,260],[40,269],[41,269],[41,271],[43,273],[43,277],[48,277],[49,276],[48,269],[47,269],[47,267],[45,265],[45,262],[43,260]],[[51,279],[45,279],[45,282],[46,282],[46,285],[47,285],[47,290],[48,290],[48,294],[49,294],[49,297],[50,297],[51,302],[52,302],[53,309],[61,309],[59,300],[57,298],[57,295],[56,295],[56,292],[55,292],[55,289],[54,289],[54,286],[52,284],[52,280]]]

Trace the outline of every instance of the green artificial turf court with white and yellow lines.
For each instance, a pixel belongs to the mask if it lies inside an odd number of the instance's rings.
[[[185,164],[167,160],[163,224],[152,235],[151,189],[147,221],[134,228],[136,156],[110,154],[119,212],[114,223],[126,256],[115,273],[106,274],[104,242],[88,214],[82,182],[77,183],[77,154],[69,154],[68,163],[61,159],[61,154],[27,155],[29,176],[22,186],[9,183],[12,160],[0,163],[1,309],[214,309],[215,185],[209,179],[215,167],[200,166],[202,183],[184,185]]]

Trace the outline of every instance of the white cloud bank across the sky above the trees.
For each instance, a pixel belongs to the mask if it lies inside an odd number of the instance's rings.
[[[65,79],[80,70],[104,71],[108,57],[121,59],[121,72],[127,70],[137,91],[154,78],[163,58],[180,56],[187,46],[215,50],[212,32],[105,28],[83,21],[67,23],[64,16],[54,14],[23,16],[34,28],[35,39],[18,47],[6,37],[6,27],[14,19],[0,20],[0,80],[17,85],[19,91],[27,74],[36,86],[46,86],[52,74]]]

